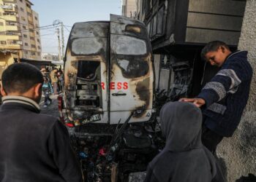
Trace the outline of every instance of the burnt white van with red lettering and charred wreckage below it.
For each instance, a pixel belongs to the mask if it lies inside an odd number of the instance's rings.
[[[140,21],[110,15],[73,25],[59,113],[87,181],[127,181],[157,154],[153,70]]]

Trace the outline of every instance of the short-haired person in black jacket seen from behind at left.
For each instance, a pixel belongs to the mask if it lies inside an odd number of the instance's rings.
[[[39,114],[40,71],[14,63],[1,79],[0,181],[83,181],[67,128],[55,117]]]

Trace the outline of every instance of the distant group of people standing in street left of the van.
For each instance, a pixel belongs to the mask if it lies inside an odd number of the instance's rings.
[[[50,94],[57,95],[63,90],[64,78],[63,71],[61,68],[48,68],[46,66],[41,67],[41,73],[44,77],[44,82],[42,84],[42,92],[45,95],[44,107],[47,107],[52,100],[50,99]]]

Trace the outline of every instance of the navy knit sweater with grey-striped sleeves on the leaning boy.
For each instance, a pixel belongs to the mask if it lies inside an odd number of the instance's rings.
[[[229,55],[219,72],[197,98],[206,101],[205,124],[217,134],[230,137],[236,130],[249,97],[252,67],[246,51]]]

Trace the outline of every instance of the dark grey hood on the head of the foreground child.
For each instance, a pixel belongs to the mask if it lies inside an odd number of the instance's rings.
[[[202,147],[202,113],[192,103],[166,103],[160,111],[162,134],[168,151],[189,151]]]

